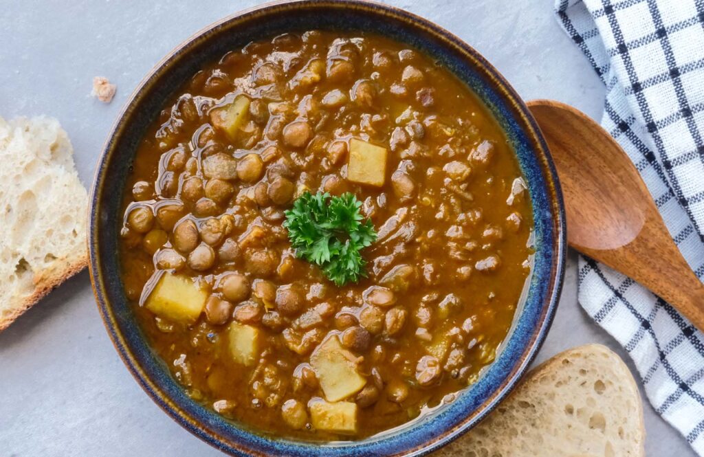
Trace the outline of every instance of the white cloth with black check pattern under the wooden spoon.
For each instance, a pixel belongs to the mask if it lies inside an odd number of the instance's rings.
[[[601,125],[704,277],[704,0],[556,0],[608,89]],[[579,303],[633,358],[650,403],[704,457],[704,334],[628,277],[579,259]]]

